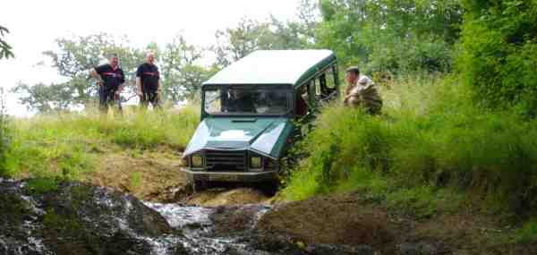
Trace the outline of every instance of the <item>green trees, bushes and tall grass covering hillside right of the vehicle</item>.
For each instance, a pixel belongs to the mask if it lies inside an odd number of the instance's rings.
[[[469,208],[525,221],[516,241],[536,241],[537,4],[320,3],[318,43],[380,72],[384,114],[327,107],[283,194],[356,191],[421,217]]]

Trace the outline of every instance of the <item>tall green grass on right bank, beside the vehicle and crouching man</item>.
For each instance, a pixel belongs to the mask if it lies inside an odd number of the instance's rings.
[[[363,191],[423,216],[468,201],[517,216],[537,208],[537,121],[479,109],[449,77],[401,79],[382,95],[381,116],[325,109],[288,199]]]

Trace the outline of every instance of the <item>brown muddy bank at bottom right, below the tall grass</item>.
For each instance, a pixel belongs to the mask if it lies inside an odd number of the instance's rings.
[[[257,225],[265,240],[367,245],[376,254],[537,254],[537,243],[515,243],[514,229],[471,211],[417,218],[358,194],[276,205]],[[361,254],[352,251],[342,254]],[[367,253],[367,252],[366,252]],[[371,253],[372,254],[372,253]]]

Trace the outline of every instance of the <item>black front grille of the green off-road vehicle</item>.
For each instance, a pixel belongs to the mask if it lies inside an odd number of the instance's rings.
[[[205,152],[209,171],[246,171],[246,151],[207,150]]]

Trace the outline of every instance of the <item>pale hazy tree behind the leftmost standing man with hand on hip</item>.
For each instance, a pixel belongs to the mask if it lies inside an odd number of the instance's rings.
[[[43,54],[50,57],[53,67],[67,81],[57,84],[30,86],[19,84],[13,91],[20,93],[21,103],[39,112],[65,110],[69,106],[88,106],[95,101],[98,86],[91,81],[88,71],[104,64],[111,54],[120,57],[124,69],[127,92],[133,93],[137,65],[143,62],[140,49],[128,47],[128,38],[115,38],[106,33],[76,38],[56,39],[57,50]],[[149,46],[151,47],[151,46]]]

